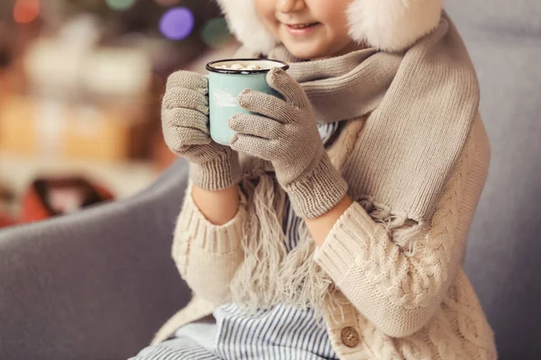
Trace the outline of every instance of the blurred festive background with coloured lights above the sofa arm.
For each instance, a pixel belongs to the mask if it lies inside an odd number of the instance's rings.
[[[150,184],[167,76],[236,47],[214,1],[1,0],[0,228]]]

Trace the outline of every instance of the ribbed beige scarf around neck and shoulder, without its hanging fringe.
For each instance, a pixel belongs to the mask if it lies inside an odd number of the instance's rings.
[[[344,166],[345,175],[358,179],[351,191],[418,223],[430,220],[480,98],[472,61],[447,14],[401,54],[362,49],[301,61],[278,46],[269,57],[291,61],[288,73],[305,90],[317,121],[369,115]]]

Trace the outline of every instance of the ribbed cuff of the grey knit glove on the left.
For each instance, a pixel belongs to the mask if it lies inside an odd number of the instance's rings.
[[[189,177],[198,187],[207,191],[217,191],[238,184],[243,172],[238,155],[233,151],[227,151],[225,157],[190,164]]]

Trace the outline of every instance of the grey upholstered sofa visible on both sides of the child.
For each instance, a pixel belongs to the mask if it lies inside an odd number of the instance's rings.
[[[490,7],[486,7],[490,6]],[[541,358],[541,2],[449,0],[481,80],[491,171],[465,268],[501,359]],[[0,359],[125,359],[189,299],[170,259],[179,160],[133,198],[0,231]]]

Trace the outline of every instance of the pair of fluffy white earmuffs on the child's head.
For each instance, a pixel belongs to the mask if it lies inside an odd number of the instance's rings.
[[[217,0],[230,30],[253,51],[268,53],[276,40],[255,11],[254,0]],[[377,49],[399,51],[434,30],[443,0],[353,0],[350,36]]]

